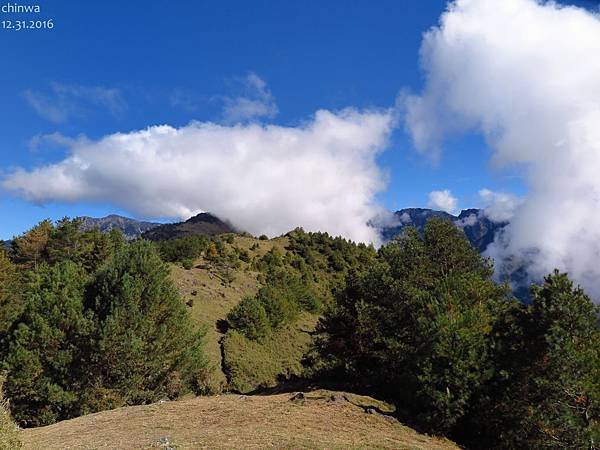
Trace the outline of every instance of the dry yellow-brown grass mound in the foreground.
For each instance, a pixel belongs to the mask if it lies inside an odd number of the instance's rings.
[[[176,449],[458,449],[366,412],[370,402],[380,405],[369,397],[330,391],[198,397],[23,430],[22,439],[26,449],[44,450],[160,448],[161,438]]]

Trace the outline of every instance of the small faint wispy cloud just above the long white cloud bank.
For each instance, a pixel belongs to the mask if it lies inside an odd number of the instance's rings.
[[[223,119],[226,123],[237,123],[261,117],[272,118],[279,109],[265,81],[250,72],[242,80],[244,95],[224,97]]]

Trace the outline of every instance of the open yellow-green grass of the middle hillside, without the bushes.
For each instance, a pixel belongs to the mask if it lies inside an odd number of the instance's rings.
[[[206,327],[206,353],[212,369],[208,392],[233,390],[247,393],[259,387],[274,386],[278,380],[302,374],[301,360],[311,344],[311,332],[318,314],[303,312],[294,323],[274,330],[261,341],[253,341],[243,334],[226,329],[229,311],[245,296],[255,295],[264,285],[265,273],[260,269],[261,259],[275,248],[284,258],[296,258],[287,236],[263,240],[245,235],[223,237],[225,253],[245,253],[246,261],[238,260],[224,274],[223,268],[204,256],[193,261],[190,269],[172,264],[172,278],[187,302],[192,317]],[[310,253],[311,266],[319,267],[314,288],[320,300],[331,296],[331,286],[339,274],[329,273],[328,259],[317,249]],[[229,376],[229,382],[227,379]]]

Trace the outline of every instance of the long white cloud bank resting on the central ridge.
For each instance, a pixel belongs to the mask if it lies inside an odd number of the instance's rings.
[[[194,122],[97,141],[65,140],[63,161],[6,177],[34,202],[102,201],[147,217],[210,211],[254,234],[297,226],[377,243],[367,222],[385,187],[375,159],[389,111],[325,110],[297,127]]]

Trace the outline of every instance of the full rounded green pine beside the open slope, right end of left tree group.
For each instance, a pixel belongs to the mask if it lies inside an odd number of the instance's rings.
[[[95,388],[110,389],[125,404],[199,389],[207,365],[203,333],[151,243],[118,251],[88,293],[97,327]]]

